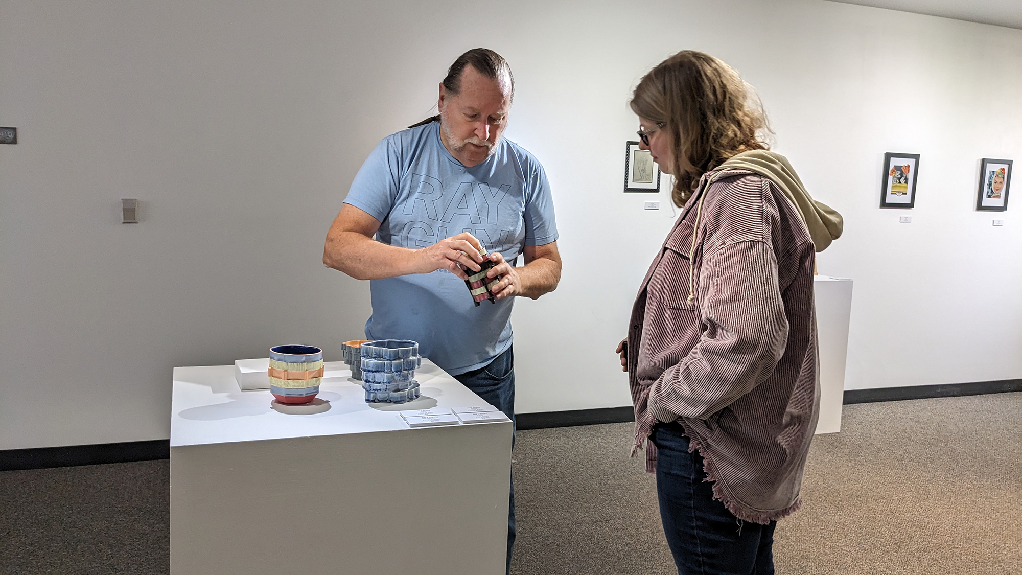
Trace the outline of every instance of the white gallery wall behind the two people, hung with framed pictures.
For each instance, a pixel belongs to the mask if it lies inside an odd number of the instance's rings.
[[[845,217],[820,271],[855,281],[847,388],[1022,378],[1022,180],[974,210],[981,158],[1022,168],[1020,30],[823,0],[0,0],[0,449],[166,439],[176,365],[339,359],[369,286],[323,267],[326,230],[476,46],[514,70],[507,135],[561,232],[560,288],[513,316],[519,412],[630,404],[613,349],[673,211],[621,191],[626,100],[687,48],[758,89]],[[922,154],[914,210],[878,208],[885,151]]]

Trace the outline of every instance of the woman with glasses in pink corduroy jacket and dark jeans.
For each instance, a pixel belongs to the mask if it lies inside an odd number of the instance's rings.
[[[635,90],[640,148],[682,209],[618,346],[680,574],[774,573],[820,385],[815,253],[841,216],[769,151],[761,104],[731,68],[684,51]]]

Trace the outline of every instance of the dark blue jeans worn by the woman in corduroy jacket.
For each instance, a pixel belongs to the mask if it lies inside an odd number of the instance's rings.
[[[774,575],[774,527],[741,521],[713,499],[703,459],[681,424],[657,424],[656,494],[679,575]]]

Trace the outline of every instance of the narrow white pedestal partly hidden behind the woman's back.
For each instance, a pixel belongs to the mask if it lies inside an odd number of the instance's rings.
[[[817,338],[820,346],[820,422],[817,433],[841,431],[844,367],[848,356],[851,280],[816,276]]]

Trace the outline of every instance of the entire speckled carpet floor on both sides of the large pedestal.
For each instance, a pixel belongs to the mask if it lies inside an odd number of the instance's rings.
[[[846,405],[812,443],[782,574],[1022,573],[1022,393]],[[631,424],[523,431],[512,572],[673,573]],[[0,473],[0,574],[166,574],[167,460]]]

